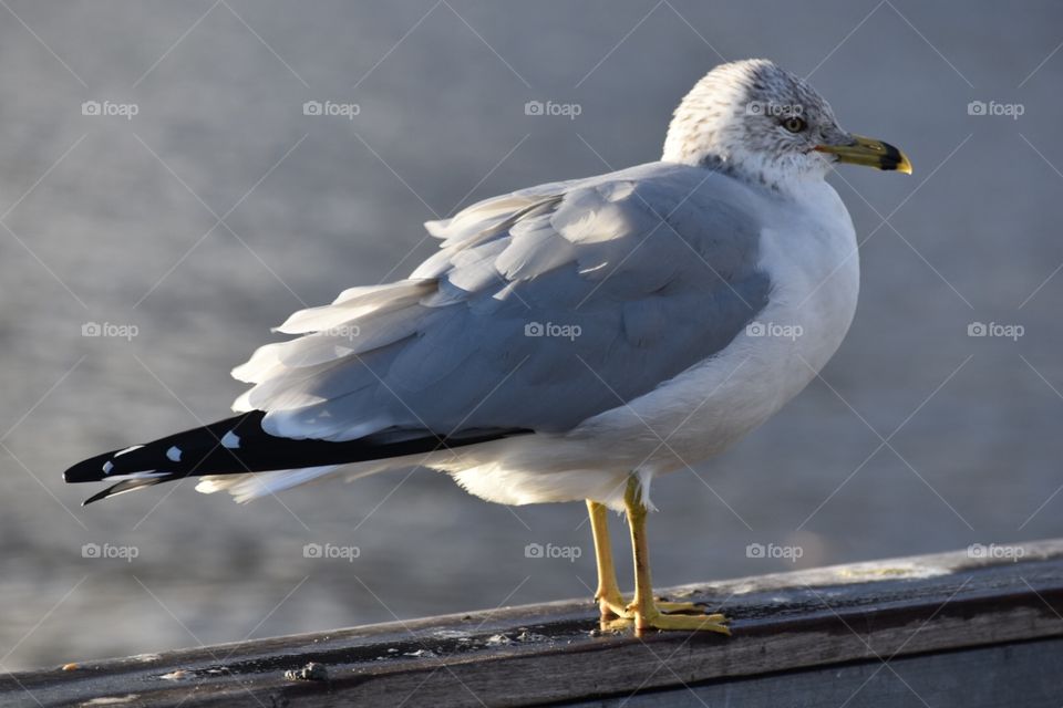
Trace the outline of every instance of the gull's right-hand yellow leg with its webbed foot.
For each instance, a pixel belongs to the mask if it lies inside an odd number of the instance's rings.
[[[646,504],[642,488],[632,475],[623,493],[623,503],[631,529],[631,551],[634,555],[634,600],[628,611],[634,616],[634,631],[646,629],[708,631],[731,634],[726,617],[721,614],[668,615],[653,600],[653,583],[650,579],[650,554],[646,540]],[[687,604],[687,603],[684,603]]]

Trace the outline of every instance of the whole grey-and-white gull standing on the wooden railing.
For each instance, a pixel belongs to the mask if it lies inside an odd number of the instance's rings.
[[[295,339],[233,375],[234,417],[82,461],[85,501],[186,477],[237,501],[425,467],[503,504],[586,501],[603,626],[730,634],[654,598],[650,486],[756,428],[840,345],[859,290],[837,163],[911,174],[839,127],[801,77],[722,64],[687,94],[659,162],[555,181],[429,221],[404,280],[292,314]],[[608,510],[627,516],[621,595]]]

